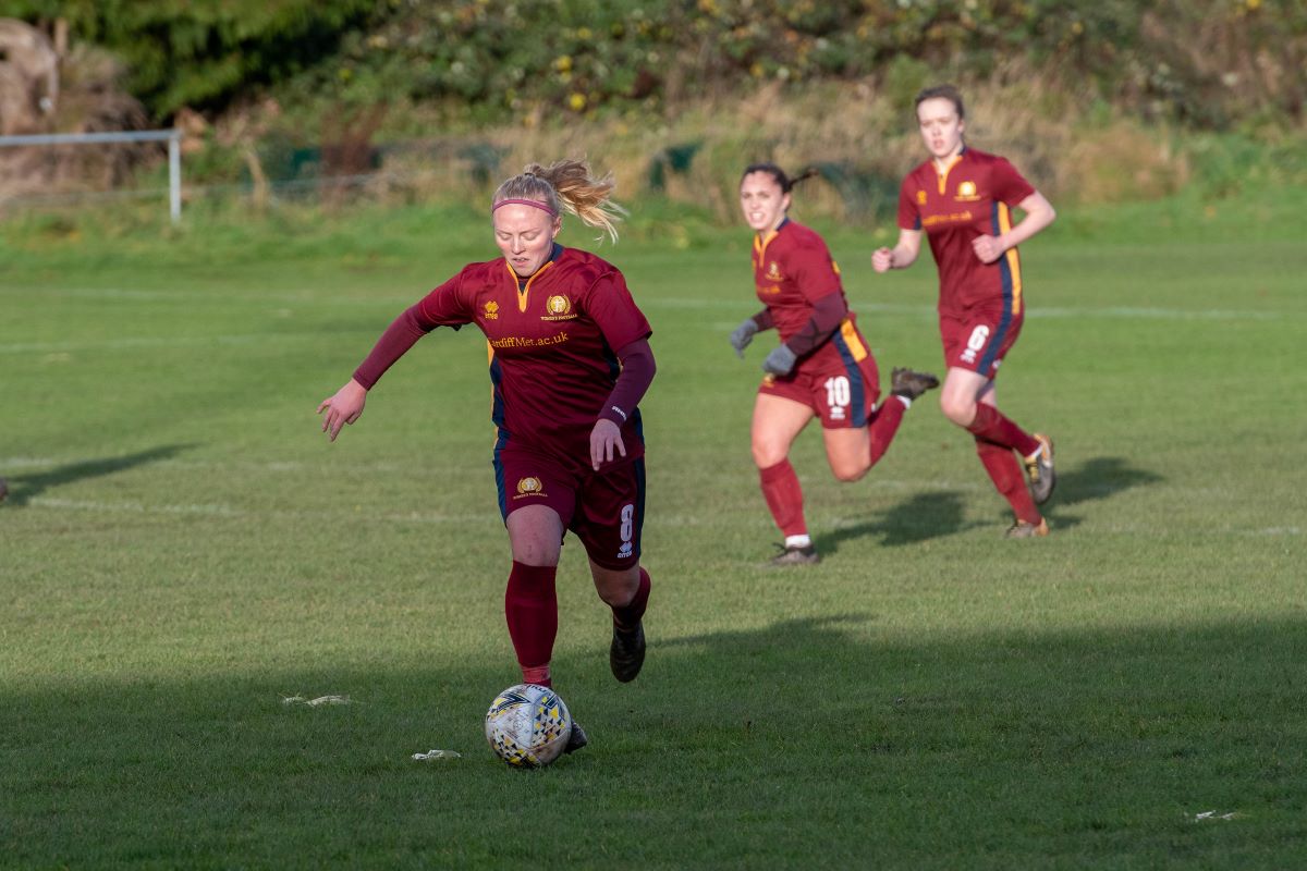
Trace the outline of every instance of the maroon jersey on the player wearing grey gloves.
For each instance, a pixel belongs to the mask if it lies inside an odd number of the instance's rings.
[[[830,294],[844,302],[839,266],[826,243],[813,230],[789,218],[763,238],[753,240],[753,282],[767,307],[780,341],[799,333],[813,315],[813,303]],[[848,312],[831,340],[799,362],[797,371],[843,371],[867,359],[869,351],[856,316]]]

